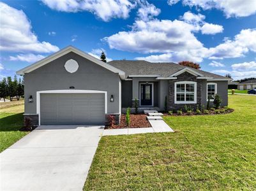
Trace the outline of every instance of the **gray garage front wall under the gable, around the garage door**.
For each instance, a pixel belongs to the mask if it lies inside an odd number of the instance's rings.
[[[65,62],[69,59],[74,59],[79,64],[79,69],[75,73],[68,73],[64,68]],[[107,112],[119,113],[119,74],[112,73],[76,53],[67,53],[31,73],[26,73],[24,78],[25,113],[36,113],[37,91],[68,90],[71,86],[76,90],[107,91]],[[33,103],[27,103],[29,95],[33,95]],[[111,95],[114,95],[114,102],[110,103]]]

